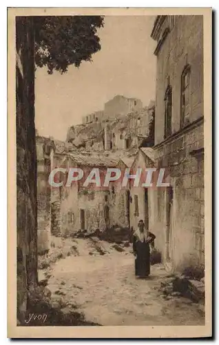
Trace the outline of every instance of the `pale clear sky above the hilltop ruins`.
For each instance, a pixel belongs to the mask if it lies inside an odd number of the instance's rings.
[[[107,16],[98,30],[101,51],[79,68],[61,75],[36,69],[35,124],[39,135],[65,140],[67,128],[81,117],[103,110],[115,95],[136,97],[147,106],[155,99],[156,42],[150,34],[155,17]]]

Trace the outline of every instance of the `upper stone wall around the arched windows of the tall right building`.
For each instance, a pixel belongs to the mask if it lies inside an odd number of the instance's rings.
[[[172,132],[180,130],[181,75],[187,64],[191,66],[189,120],[203,116],[203,18],[174,16],[174,26],[169,27],[169,17],[163,23],[163,28],[170,29],[169,34],[157,53],[155,144],[164,139],[164,99],[168,83],[172,87]]]

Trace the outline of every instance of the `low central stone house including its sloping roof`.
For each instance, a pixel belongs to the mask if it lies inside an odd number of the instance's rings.
[[[68,153],[63,165],[69,168],[81,168],[83,178],[73,181],[72,185],[61,187],[61,233],[70,234],[77,230],[105,230],[110,224],[110,189],[103,187],[103,177],[107,167],[116,166],[116,161],[107,156]],[[93,168],[98,168],[101,186],[89,184],[83,186],[86,177]]]

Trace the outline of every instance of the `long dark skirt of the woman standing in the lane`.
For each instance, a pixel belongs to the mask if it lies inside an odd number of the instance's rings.
[[[149,244],[136,242],[135,275],[147,277],[150,274],[150,250]]]

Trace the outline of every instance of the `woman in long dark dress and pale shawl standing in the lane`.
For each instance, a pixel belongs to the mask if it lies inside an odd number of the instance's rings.
[[[145,224],[141,219],[138,222],[138,229],[133,235],[133,252],[135,259],[135,275],[145,278],[150,274],[150,248],[149,244],[154,242],[155,235],[145,229]]]

